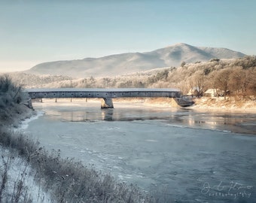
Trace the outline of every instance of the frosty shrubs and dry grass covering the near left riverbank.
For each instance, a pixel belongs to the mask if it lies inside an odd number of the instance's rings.
[[[2,120],[5,120],[10,117],[6,109],[16,109],[23,99],[18,98],[21,96],[20,87],[15,86],[8,77],[1,77],[0,81],[0,115]],[[23,112],[16,112],[21,113]],[[11,117],[14,116],[15,114],[11,114]],[[14,118],[8,120],[12,122]],[[160,198],[151,197],[137,186],[118,182],[110,174],[88,168],[73,159],[63,159],[59,150],[48,152],[37,142],[20,132],[12,131],[6,125],[0,126],[0,202],[35,202],[26,186],[28,168],[32,168],[33,173],[30,175],[33,175],[39,188],[50,194],[50,202],[163,202]],[[24,167],[20,169],[17,180],[11,183],[10,168],[14,156],[23,159]]]

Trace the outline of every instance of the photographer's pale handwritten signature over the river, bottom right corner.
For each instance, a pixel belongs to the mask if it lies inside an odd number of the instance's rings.
[[[242,183],[236,183],[231,181],[229,184],[224,184],[223,181],[218,183],[218,185],[211,186],[210,183],[206,182],[203,184],[203,189],[201,193],[209,196],[233,196],[237,198],[238,196],[250,197],[251,193],[248,190],[252,189],[253,186],[248,186]]]

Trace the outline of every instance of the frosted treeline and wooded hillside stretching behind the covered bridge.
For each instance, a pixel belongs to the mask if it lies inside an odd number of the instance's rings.
[[[29,75],[26,75],[29,78]],[[34,77],[34,76],[33,76]],[[207,89],[221,89],[224,95],[256,95],[256,56],[241,59],[211,59],[209,62],[182,62],[181,66],[157,68],[117,77],[84,77],[72,79],[62,76],[38,76],[23,80],[29,87],[46,88],[178,88],[184,94],[197,88],[199,95]],[[22,80],[23,77],[20,77]],[[20,83],[19,80],[17,80]]]

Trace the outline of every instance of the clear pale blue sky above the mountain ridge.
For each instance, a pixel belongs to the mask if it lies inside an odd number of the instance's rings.
[[[254,0],[0,0],[0,72],[186,43],[256,54]]]

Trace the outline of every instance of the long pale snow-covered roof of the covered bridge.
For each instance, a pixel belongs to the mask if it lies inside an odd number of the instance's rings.
[[[26,92],[180,92],[180,89],[173,88],[115,88],[115,89],[98,89],[98,88],[38,88],[25,89]]]

